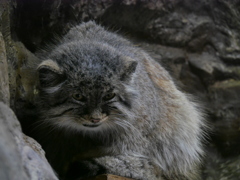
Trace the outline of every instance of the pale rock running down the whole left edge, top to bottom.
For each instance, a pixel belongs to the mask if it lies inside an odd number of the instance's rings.
[[[10,35],[10,4],[0,3],[0,179],[57,180],[41,146],[24,135],[14,112],[17,53]],[[3,35],[2,35],[3,34]],[[10,90],[9,90],[10,85]],[[11,92],[11,93],[10,93]],[[12,101],[10,101],[10,94]],[[11,103],[10,103],[11,102]]]

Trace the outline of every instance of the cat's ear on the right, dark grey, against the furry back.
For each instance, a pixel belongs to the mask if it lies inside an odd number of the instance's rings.
[[[123,57],[124,69],[120,76],[121,81],[131,79],[132,74],[135,72],[137,67],[137,61],[130,57]]]

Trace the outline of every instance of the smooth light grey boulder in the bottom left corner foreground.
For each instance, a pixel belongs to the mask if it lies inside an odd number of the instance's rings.
[[[40,145],[21,132],[16,116],[0,102],[0,179],[57,180]]]

